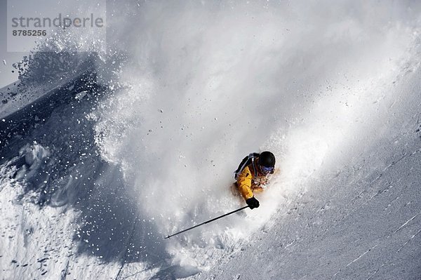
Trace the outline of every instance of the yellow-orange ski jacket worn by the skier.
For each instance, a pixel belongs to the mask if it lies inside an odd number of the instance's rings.
[[[252,198],[253,192],[261,192],[263,190],[262,185],[266,184],[267,177],[260,175],[260,173],[257,173],[257,176],[255,176],[251,164],[243,169],[236,181],[239,192],[245,200]]]

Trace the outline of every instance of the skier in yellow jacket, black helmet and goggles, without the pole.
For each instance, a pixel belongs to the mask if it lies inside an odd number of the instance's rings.
[[[260,206],[253,192],[261,192],[274,173],[275,156],[272,152],[252,153],[246,156],[235,171],[236,187],[250,209]]]

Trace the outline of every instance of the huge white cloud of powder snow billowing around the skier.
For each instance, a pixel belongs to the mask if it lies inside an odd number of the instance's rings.
[[[139,234],[163,237],[242,206],[229,187],[249,152],[272,150],[281,169],[246,218],[168,242],[184,266],[206,269],[193,261],[199,248],[235,249],[330,155],[367,144],[361,129],[379,121],[392,81],[418,66],[418,15],[394,2],[124,5],[109,34],[128,51],[126,87],[104,102],[96,130],[102,157],[122,166],[140,217],[155,225]]]

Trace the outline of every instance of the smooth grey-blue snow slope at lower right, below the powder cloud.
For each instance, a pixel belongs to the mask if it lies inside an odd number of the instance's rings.
[[[420,279],[420,72],[411,76],[361,154],[315,174],[269,229],[194,279]]]

